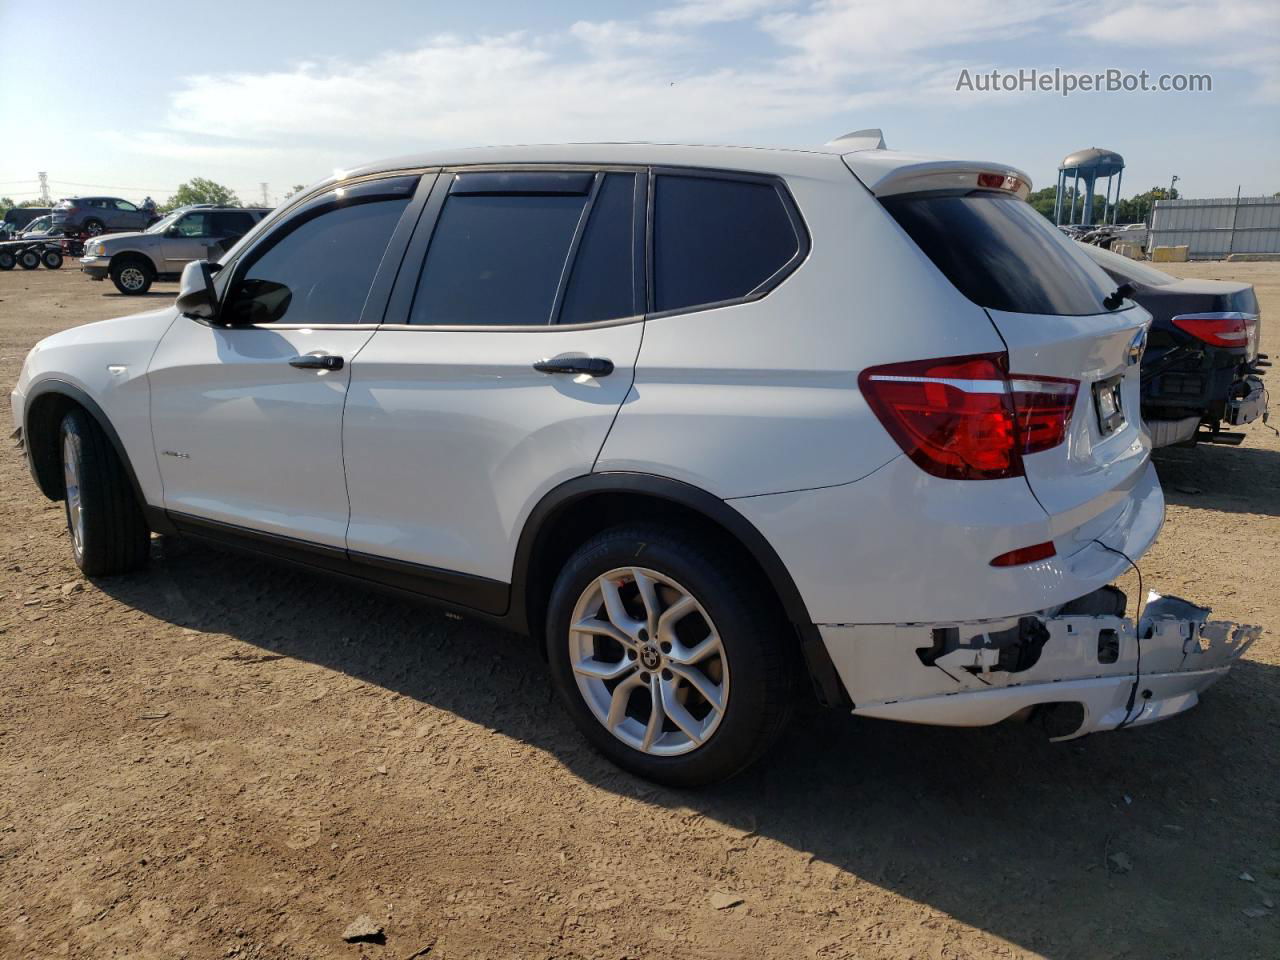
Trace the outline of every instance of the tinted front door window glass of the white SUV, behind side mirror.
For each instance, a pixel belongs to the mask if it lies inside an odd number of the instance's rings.
[[[369,288],[408,197],[330,207],[283,236],[239,278],[232,324],[360,323]]]

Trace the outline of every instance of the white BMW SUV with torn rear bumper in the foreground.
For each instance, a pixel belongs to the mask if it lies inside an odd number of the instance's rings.
[[[84,573],[186,534],[497,621],[653,780],[742,769],[804,675],[1147,723],[1257,631],[1107,586],[1164,518],[1148,316],[1028,188],[874,132],[374,164],[42,340],[14,419]]]

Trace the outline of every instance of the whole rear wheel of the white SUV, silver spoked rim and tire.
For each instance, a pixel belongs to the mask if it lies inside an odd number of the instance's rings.
[[[733,553],[646,524],[582,544],[547,614],[552,681],[579,730],[618,767],[677,787],[732,777],[782,732],[787,635]]]

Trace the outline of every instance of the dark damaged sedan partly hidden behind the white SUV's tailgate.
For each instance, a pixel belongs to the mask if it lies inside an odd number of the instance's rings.
[[[1183,280],[1101,247],[1084,252],[1151,314],[1142,360],[1142,419],[1155,447],[1236,444],[1243,426],[1267,415],[1258,352],[1262,317],[1253,285]]]

